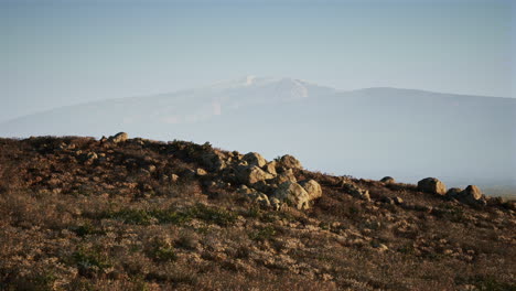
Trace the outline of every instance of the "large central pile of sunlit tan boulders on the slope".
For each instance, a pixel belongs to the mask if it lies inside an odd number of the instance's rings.
[[[219,172],[225,181],[240,184],[239,192],[264,207],[278,209],[287,203],[308,209],[312,201],[322,196],[316,181],[297,181],[293,171],[302,170],[302,164],[289,154],[269,162],[256,152],[239,154],[213,150],[201,160],[211,171]]]

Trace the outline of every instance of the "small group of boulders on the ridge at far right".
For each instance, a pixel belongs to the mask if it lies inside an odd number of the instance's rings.
[[[418,190],[421,192],[433,193],[444,197],[456,200],[470,205],[485,205],[486,197],[475,185],[469,185],[466,188],[452,187],[447,191],[444,183],[436,177],[426,177],[418,182]]]

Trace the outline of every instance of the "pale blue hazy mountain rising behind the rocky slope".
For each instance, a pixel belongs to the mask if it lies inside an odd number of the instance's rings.
[[[516,188],[516,99],[397,88],[342,91],[248,76],[148,97],[56,108],[0,123],[0,136],[209,140],[312,170]]]

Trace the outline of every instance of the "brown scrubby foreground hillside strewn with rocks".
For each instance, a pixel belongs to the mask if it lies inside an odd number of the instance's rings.
[[[207,142],[0,139],[0,290],[516,290],[515,211]]]

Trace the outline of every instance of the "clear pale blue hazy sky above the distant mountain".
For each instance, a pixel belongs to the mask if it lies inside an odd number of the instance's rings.
[[[516,97],[510,0],[0,0],[0,120],[288,76]]]

